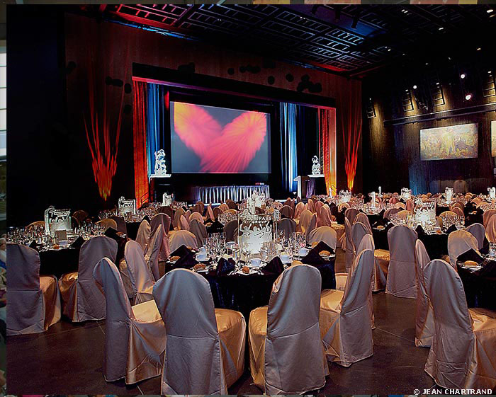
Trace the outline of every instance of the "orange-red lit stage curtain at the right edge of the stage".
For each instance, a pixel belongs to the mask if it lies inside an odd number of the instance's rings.
[[[319,147],[327,192],[336,194],[336,109],[319,108]]]

